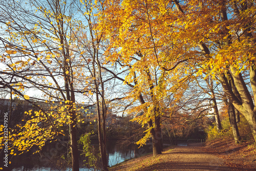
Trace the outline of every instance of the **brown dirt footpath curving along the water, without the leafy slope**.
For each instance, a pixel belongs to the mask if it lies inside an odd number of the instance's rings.
[[[209,153],[208,150],[210,148],[201,143],[175,146],[165,149],[162,155],[153,157],[148,154],[120,163],[110,170],[254,170],[239,165],[231,166],[218,154]]]

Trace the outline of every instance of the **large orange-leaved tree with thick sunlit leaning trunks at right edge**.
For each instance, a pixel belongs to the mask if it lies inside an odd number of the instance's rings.
[[[179,15],[175,25],[183,28],[182,37],[178,33],[177,38],[185,38],[201,50],[203,60],[198,62],[204,65],[204,70],[210,68],[209,73],[218,76],[230,102],[249,123],[256,141],[255,104],[252,99],[255,98],[255,35],[252,22],[255,19],[255,2],[174,1],[174,4]],[[248,90],[242,71],[250,73],[249,86],[253,94]],[[230,79],[234,80],[237,92],[228,83]]]

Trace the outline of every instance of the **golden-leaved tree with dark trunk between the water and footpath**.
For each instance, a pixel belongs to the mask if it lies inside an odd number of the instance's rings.
[[[129,73],[123,80],[131,87],[129,98],[140,105],[131,112],[143,111],[134,120],[147,125],[147,132],[138,143],[152,137],[153,154],[161,154],[161,116],[165,98],[178,99],[186,88],[190,72],[182,72],[186,58],[180,56],[187,47],[172,39],[167,24],[160,15],[165,8],[161,2],[106,1],[103,30],[111,43],[106,51],[109,59]],[[191,69],[192,70],[192,69]],[[176,73],[176,75],[174,74]],[[180,90],[179,92],[177,90]]]

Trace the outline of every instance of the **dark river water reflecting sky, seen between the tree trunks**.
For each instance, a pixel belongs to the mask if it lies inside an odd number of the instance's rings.
[[[94,148],[98,149],[97,141],[92,141],[94,144]],[[68,144],[66,141],[56,141],[55,143],[46,145],[42,152],[39,154],[33,155],[33,150],[30,152],[14,156],[11,160],[12,163],[9,165],[12,167],[10,170],[12,171],[48,171],[48,170],[72,170],[68,163],[70,160],[67,157],[68,154]],[[109,165],[113,166],[115,164],[121,163],[126,159],[131,159],[134,157],[140,157],[146,153],[152,152],[152,145],[144,145],[141,148],[138,146],[130,145],[124,146],[117,144],[115,140],[109,140],[106,144],[106,152],[109,158]],[[83,165],[85,158],[80,156],[79,165],[80,170],[82,171],[89,171],[95,170],[94,168],[87,168]],[[9,167],[9,168],[10,168]]]

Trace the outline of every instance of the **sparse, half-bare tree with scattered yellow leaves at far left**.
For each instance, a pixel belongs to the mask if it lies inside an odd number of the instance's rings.
[[[72,169],[79,170],[75,96],[88,93],[89,88],[81,86],[86,83],[84,79],[78,79],[83,69],[78,68],[81,60],[74,34],[82,25],[73,19],[73,7],[73,1],[8,1],[1,6],[1,22],[8,35],[1,37],[5,48],[2,62],[7,66],[1,73],[1,85],[36,105],[33,97],[24,94],[24,90],[34,88],[43,95],[34,99],[47,103],[47,108],[37,105],[39,111],[28,111],[32,117],[19,129],[29,129],[13,135],[13,145],[20,151],[33,145],[41,148],[46,140],[61,133],[59,126],[68,124]]]

